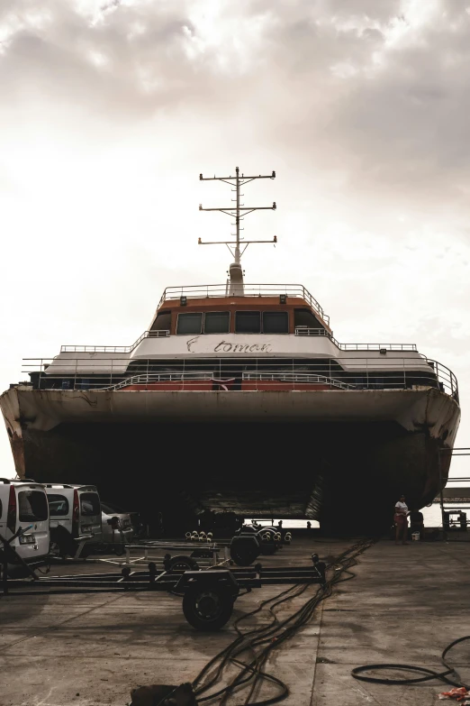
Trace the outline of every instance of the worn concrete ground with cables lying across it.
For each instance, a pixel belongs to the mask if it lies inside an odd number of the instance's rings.
[[[312,551],[339,555],[348,542],[300,538],[263,562],[307,564]],[[65,573],[53,567],[55,573]],[[103,564],[67,566],[67,573],[104,571]],[[357,577],[339,584],[308,626],[274,650],[267,672],[288,684],[290,706],[357,706],[371,703],[436,704],[444,684],[415,687],[357,682],[357,665],[402,662],[441,669],[451,640],[470,634],[470,544],[384,540],[359,558]],[[283,587],[240,597],[234,617],[256,608]],[[284,619],[306,597],[278,611]],[[262,611],[245,628],[266,622]],[[1,706],[123,706],[131,688],[192,681],[203,665],[235,637],[194,631],[181,599],[165,593],[9,596],[0,599]],[[470,682],[470,642],[449,655]],[[234,674],[234,673],[232,673]],[[273,692],[263,689],[261,701]],[[240,703],[242,694],[230,703]]]

